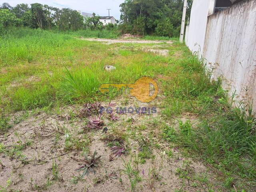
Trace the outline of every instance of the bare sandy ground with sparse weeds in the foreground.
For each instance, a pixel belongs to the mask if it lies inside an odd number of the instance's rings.
[[[112,101],[116,106],[157,106],[161,98],[152,104],[142,104],[134,98],[117,98]],[[102,103],[107,106],[107,103]],[[130,180],[124,173],[124,162],[131,162],[134,170],[138,170],[140,181],[136,183],[134,191],[140,192],[174,192],[182,189],[187,192],[208,191],[207,186],[217,191],[216,175],[208,169],[203,162],[193,160],[182,154],[182,149],[161,139],[161,130],[155,122],[162,122],[160,109],[157,114],[118,115],[118,120],[112,122],[104,115],[103,120],[108,128],[106,133],[102,129],[85,129],[86,119],[70,114],[79,114],[82,106],[68,106],[60,109],[59,114],[46,114],[44,112],[34,114],[26,120],[16,124],[8,131],[8,134],[0,136],[0,142],[5,146],[0,156],[0,186],[6,186],[6,181],[11,180],[7,191],[17,190],[22,192],[47,191],[47,192],[120,192],[131,191]],[[13,119],[21,113],[14,114]],[[196,118],[184,115],[182,121],[187,118],[196,122]],[[175,119],[174,119],[175,121]],[[168,124],[168,122],[166,122]],[[144,125],[144,128],[141,128]],[[105,134],[120,133],[128,135],[124,141],[129,150],[116,158],[106,141],[101,140]],[[65,149],[67,137],[76,140],[74,146]],[[78,177],[82,172],[75,169],[85,164],[83,152],[76,145],[87,147],[85,137],[88,140],[88,154],[101,156],[95,174],[80,178],[72,182],[72,178]],[[146,158],[144,163],[136,164],[136,156],[139,154],[140,137],[151,138],[152,156]],[[58,138],[58,139],[57,139]],[[19,154],[10,156],[10,151],[30,141]],[[83,146],[82,146],[83,147]],[[9,151],[9,153],[7,152]],[[168,156],[172,151],[172,156]],[[18,158],[20,153],[23,161]],[[25,161],[24,161],[25,160]],[[25,162],[25,163],[24,163]],[[52,179],[53,163],[57,165],[58,178]],[[138,167],[136,168],[136,166]],[[186,172],[186,176],[178,172]],[[152,174],[154,172],[154,174]],[[207,184],[199,182],[200,177],[207,177]],[[189,178],[189,179],[188,179]],[[50,182],[48,182],[50,180]]]

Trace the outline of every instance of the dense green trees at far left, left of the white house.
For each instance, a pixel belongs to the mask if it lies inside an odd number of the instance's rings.
[[[61,10],[39,3],[18,4],[11,7],[3,3],[0,7],[0,30],[11,26],[58,30],[78,30],[84,26],[84,18],[76,10]]]

